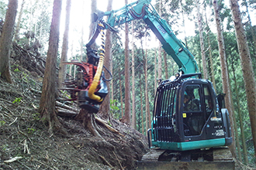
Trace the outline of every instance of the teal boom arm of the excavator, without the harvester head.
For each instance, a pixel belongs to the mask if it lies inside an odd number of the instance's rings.
[[[189,52],[184,43],[177,39],[168,23],[161,19],[161,16],[150,2],[151,0],[138,0],[118,10],[105,12],[104,15],[109,16],[107,22],[105,22],[105,28],[119,26],[134,19],[143,19],[160,40],[166,53],[178,64],[179,71],[182,71],[182,73],[199,73],[195,57]]]

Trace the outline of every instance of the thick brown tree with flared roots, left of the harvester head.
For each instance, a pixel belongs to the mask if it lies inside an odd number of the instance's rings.
[[[60,21],[61,21],[61,2],[54,0],[53,18],[50,26],[49,49],[47,52],[47,61],[45,66],[43,89],[40,98],[40,117],[49,125],[49,134],[52,134],[54,128],[61,129],[61,123],[55,113],[55,94],[56,94],[56,63],[57,50],[59,46]]]

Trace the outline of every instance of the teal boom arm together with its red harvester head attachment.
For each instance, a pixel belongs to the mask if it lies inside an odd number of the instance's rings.
[[[114,26],[119,26],[134,19],[143,19],[147,26],[150,27],[160,40],[166,53],[178,64],[178,71],[182,72],[182,74],[195,73],[193,74],[194,76],[197,75],[196,73],[199,73],[195,57],[189,52],[189,49],[186,48],[184,43],[177,39],[170,26],[168,26],[168,23],[164,19],[161,19],[161,16],[150,2],[151,0],[138,0],[118,10],[105,13],[98,12],[98,14],[95,15],[95,23],[97,26],[86,45],[88,56],[87,63],[66,63],[79,66],[77,78],[65,82],[69,87],[65,90],[69,90],[71,93],[70,100],[78,100],[79,107],[91,110],[92,113],[97,112],[99,110],[99,104],[102,104],[102,101],[108,93],[106,79],[102,71],[105,52],[103,29],[115,31]],[[102,19],[104,16],[108,16],[107,21]],[[100,49],[101,52],[98,55],[97,50],[92,49],[91,45],[95,42],[99,33],[102,35],[102,45]]]

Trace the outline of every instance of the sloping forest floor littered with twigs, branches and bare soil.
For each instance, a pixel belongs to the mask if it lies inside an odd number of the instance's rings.
[[[143,134],[112,119],[109,124],[120,134],[99,124],[103,140],[81,121],[61,116],[68,135],[48,134],[37,112],[42,78],[19,63],[12,63],[11,70],[12,84],[0,80],[0,170],[137,168],[148,151]],[[236,169],[251,168],[236,162]]]

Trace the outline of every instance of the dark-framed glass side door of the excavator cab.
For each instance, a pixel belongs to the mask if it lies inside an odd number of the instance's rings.
[[[214,93],[210,85],[200,80],[185,83],[184,90],[182,90],[182,120],[185,141],[206,139],[206,122],[209,121],[215,108]]]

